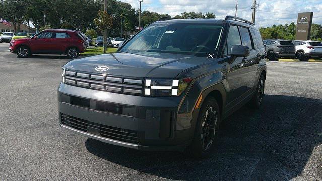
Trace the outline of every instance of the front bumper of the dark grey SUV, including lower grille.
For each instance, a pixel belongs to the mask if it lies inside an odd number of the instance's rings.
[[[175,129],[179,102],[173,97],[123,95],[61,83],[59,124],[113,145],[145,151],[182,151],[190,144],[194,130]]]

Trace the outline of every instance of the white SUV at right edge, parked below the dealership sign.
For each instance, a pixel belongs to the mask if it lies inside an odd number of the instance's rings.
[[[319,41],[293,41],[295,45],[296,57],[300,61],[306,58],[322,58],[322,43]]]

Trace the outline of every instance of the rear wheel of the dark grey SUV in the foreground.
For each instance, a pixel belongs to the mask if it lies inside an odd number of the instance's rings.
[[[255,109],[259,109],[263,103],[265,90],[265,77],[262,74],[260,76],[259,83],[257,84],[256,92],[252,99],[249,101],[249,105]]]

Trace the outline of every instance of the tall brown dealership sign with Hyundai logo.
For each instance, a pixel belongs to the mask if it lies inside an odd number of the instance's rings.
[[[313,12],[299,13],[296,25],[296,40],[309,40]]]

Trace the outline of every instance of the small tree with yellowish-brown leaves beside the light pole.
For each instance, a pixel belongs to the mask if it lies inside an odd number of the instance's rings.
[[[97,14],[97,18],[94,19],[94,23],[96,24],[98,30],[104,34],[106,29],[110,29],[113,26],[113,18],[105,11],[99,10]],[[104,42],[107,42],[107,37],[103,37]],[[106,48],[104,46],[104,53],[106,52]]]

